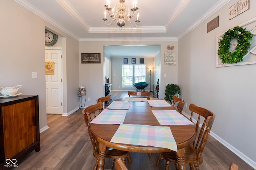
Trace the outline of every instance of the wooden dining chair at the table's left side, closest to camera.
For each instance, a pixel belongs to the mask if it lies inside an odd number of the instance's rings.
[[[94,170],[96,170],[98,167],[99,150],[98,150],[98,142],[96,139],[94,139],[94,137],[91,134],[90,122],[100,113],[100,109],[102,109],[102,107],[103,107],[102,103],[98,102],[95,105],[86,107],[82,111],[82,113],[84,115],[84,121],[86,123],[86,128],[87,128],[88,134],[90,136],[90,140],[92,142],[92,148],[93,148],[92,153],[93,153],[93,156],[96,158]],[[107,150],[106,150],[106,158],[113,158],[112,170],[114,168],[115,159],[122,158],[122,161],[125,163],[126,157],[128,159],[128,162],[132,163],[129,152],[122,151],[122,150],[116,150],[113,148],[107,148]]]

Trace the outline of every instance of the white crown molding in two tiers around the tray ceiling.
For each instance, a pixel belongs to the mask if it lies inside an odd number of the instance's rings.
[[[26,0],[14,0],[14,1],[17,2],[18,4],[24,6],[25,8],[27,8],[34,14],[38,15],[40,18],[46,20],[47,22],[49,22],[56,28],[60,29],[61,31],[63,31],[64,33],[68,34],[69,36],[71,36],[72,38],[74,38],[78,41],[177,41],[177,40],[180,40],[180,38],[182,38],[186,34],[188,34],[190,31],[192,31],[194,28],[196,28],[196,26],[198,26],[199,24],[204,22],[208,17],[212,16],[212,14],[214,14],[217,10],[222,8],[225,4],[230,2],[230,0],[221,0],[220,2],[218,2],[218,4],[216,4],[210,10],[208,10],[199,20],[194,22],[194,24],[192,24],[187,30],[185,30],[177,38],[79,38],[72,32],[68,31],[66,28],[64,28],[62,25],[58,24],[58,22],[56,22],[55,20],[53,20],[52,18],[50,18],[49,16],[47,16],[46,14],[44,14],[43,12],[41,12],[40,10],[38,10],[37,8],[32,6]],[[84,20],[82,20],[81,16],[74,10],[74,8],[72,8],[72,6],[66,0],[56,0],[56,1],[57,2],[59,1],[62,4],[61,5],[62,8],[64,8],[65,10],[68,10],[69,14],[71,16],[73,16],[73,18],[75,17],[76,19],[75,18],[74,19],[80,25],[82,25],[84,27],[84,29],[87,30],[89,33],[111,33],[111,32],[120,33],[120,31],[121,31],[119,29],[117,30],[116,27],[103,27],[103,28],[89,27],[88,24],[86,22],[84,22]],[[180,2],[179,7],[176,8],[175,11],[179,11],[182,8],[185,8],[185,6],[187,5],[186,3],[188,3],[189,1],[190,0],[183,0],[182,2]],[[177,13],[176,16],[170,18],[170,20],[168,21],[168,23],[166,24],[165,27],[136,27],[136,28],[126,27],[125,29],[122,30],[122,33],[159,33],[159,32],[162,33],[162,32],[166,32],[166,30],[168,30],[167,28],[169,28],[171,26],[171,24],[176,20],[178,15],[179,14]]]

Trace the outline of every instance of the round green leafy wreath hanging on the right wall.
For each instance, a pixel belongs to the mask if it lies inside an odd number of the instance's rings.
[[[236,51],[230,53],[230,41],[234,38],[237,40]],[[249,40],[252,40],[252,35],[244,28],[236,26],[229,29],[222,36],[222,40],[219,41],[218,55],[222,63],[238,63],[243,61],[243,57],[251,45]]]

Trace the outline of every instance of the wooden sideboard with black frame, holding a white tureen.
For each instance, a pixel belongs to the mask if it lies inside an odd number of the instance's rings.
[[[40,151],[37,96],[0,98],[0,170],[16,164],[35,150]],[[16,164],[7,163],[16,160]],[[12,167],[10,167],[12,166]]]

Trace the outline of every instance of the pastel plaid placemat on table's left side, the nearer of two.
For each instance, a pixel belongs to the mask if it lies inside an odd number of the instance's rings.
[[[96,124],[122,124],[126,116],[127,110],[107,110],[104,109],[96,116],[91,123]]]

